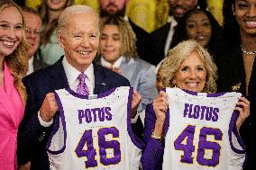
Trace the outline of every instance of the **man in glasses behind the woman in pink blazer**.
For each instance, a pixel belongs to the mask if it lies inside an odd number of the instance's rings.
[[[36,57],[41,40],[42,22],[40,14],[30,7],[23,7],[23,16],[25,20],[25,39],[30,45],[30,49],[27,51],[29,58],[29,70],[27,75],[29,75],[38,69],[47,67],[47,64]]]

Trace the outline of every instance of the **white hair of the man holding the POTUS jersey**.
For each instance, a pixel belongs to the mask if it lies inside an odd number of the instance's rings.
[[[67,7],[62,13],[60,13],[59,20],[58,20],[59,31],[61,32],[65,31],[65,24],[68,21],[69,17],[72,14],[76,14],[76,13],[94,13],[96,16],[96,20],[99,23],[98,14],[91,7],[87,5],[77,4],[77,5],[72,5]]]

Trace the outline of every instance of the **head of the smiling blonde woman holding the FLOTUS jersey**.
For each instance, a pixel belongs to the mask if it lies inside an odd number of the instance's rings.
[[[164,80],[164,86],[178,86],[194,92],[215,93],[216,70],[206,49],[203,49],[195,40],[187,40],[169,50],[169,57],[164,58],[159,74]],[[197,85],[189,82],[196,82]]]

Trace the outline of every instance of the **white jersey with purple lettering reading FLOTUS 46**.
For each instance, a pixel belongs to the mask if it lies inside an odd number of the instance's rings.
[[[242,94],[166,88],[169,97],[163,170],[241,170],[242,139],[235,128]]]

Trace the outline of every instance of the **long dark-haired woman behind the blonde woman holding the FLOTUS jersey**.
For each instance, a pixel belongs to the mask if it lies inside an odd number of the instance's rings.
[[[170,48],[175,47],[182,40],[197,40],[216,62],[223,51],[222,32],[222,27],[212,13],[202,9],[192,9],[178,22]]]

